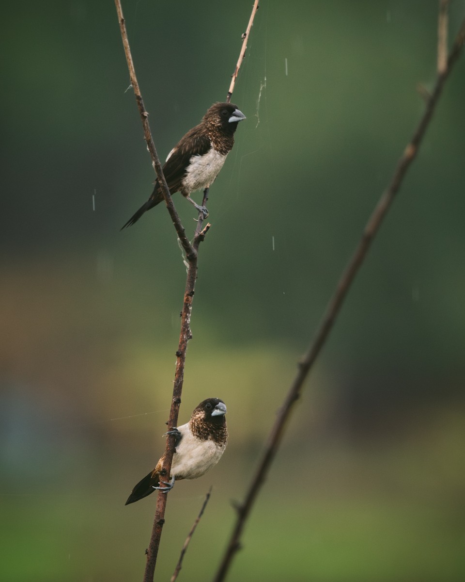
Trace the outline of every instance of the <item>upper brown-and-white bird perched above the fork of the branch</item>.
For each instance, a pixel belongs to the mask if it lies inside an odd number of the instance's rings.
[[[226,156],[234,145],[234,132],[239,121],[245,119],[237,105],[217,102],[210,107],[201,123],[192,127],[168,154],[163,165],[170,194],[181,192],[195,208],[208,217],[205,206],[199,206],[190,197],[196,190],[205,190],[213,183],[223,167]],[[121,230],[133,225],[144,212],[164,200],[158,179],[151,197],[126,222]]]

